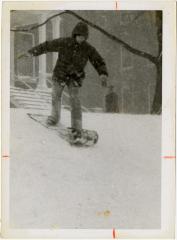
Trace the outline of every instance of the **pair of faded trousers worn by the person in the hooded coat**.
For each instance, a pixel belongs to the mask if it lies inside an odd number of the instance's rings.
[[[52,112],[51,115],[60,121],[61,98],[65,86],[58,81],[53,81],[52,86]],[[77,130],[82,129],[82,110],[80,101],[80,87],[76,87],[72,82],[67,86],[71,104],[71,127]]]

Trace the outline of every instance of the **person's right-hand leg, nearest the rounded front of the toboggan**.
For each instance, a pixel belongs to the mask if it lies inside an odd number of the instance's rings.
[[[80,87],[73,84],[68,86],[71,103],[71,127],[77,131],[82,130],[82,109],[80,101]]]

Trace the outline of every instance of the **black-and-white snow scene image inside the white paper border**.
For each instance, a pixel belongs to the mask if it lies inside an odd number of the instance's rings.
[[[114,4],[10,9],[10,229],[162,228],[166,18]]]

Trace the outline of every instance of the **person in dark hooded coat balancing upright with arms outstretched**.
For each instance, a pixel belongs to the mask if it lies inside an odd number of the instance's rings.
[[[71,104],[71,128],[76,132],[75,139],[81,138],[82,109],[80,88],[85,78],[84,68],[88,62],[98,72],[103,87],[107,87],[108,71],[105,61],[97,50],[87,42],[88,25],[79,22],[73,29],[72,36],[46,41],[28,50],[32,56],[47,52],[58,52],[58,59],[52,76],[52,110],[47,124],[56,125],[60,120],[61,96],[65,86],[68,87]]]

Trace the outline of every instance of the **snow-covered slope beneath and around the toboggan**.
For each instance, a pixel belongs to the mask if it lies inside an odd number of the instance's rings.
[[[160,116],[84,113],[100,138],[76,148],[26,112],[11,109],[11,227],[160,227]]]

